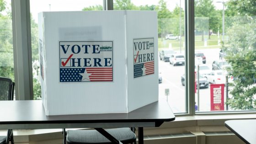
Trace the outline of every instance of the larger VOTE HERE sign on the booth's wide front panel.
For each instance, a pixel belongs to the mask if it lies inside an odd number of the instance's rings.
[[[113,81],[113,42],[59,42],[59,82]]]

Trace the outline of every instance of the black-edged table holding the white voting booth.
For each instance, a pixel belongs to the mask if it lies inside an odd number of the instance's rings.
[[[0,101],[0,129],[159,127],[175,120],[168,103],[160,100],[129,113],[46,116],[42,101]]]

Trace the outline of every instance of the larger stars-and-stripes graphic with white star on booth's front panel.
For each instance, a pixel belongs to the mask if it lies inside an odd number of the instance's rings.
[[[60,82],[113,81],[112,68],[64,68],[60,69]]]

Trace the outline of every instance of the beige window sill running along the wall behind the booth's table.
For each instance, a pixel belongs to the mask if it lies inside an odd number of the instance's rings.
[[[256,119],[256,114],[219,114],[177,116],[175,121],[165,122],[159,128],[144,128],[144,135],[187,133],[187,132],[223,132],[229,131],[224,122],[232,119]],[[6,130],[0,130],[5,135]],[[14,130],[16,141],[62,139],[62,129],[23,129]],[[33,141],[33,140],[32,140]]]

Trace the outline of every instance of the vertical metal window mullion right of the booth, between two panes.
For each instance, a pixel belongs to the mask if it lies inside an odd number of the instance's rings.
[[[187,112],[195,115],[195,17],[194,0],[186,0],[186,95]]]

